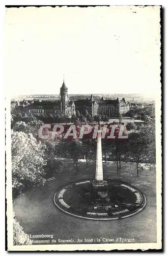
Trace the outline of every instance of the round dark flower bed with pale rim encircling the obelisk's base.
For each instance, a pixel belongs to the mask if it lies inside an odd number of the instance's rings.
[[[146,206],[142,191],[130,184],[107,180],[107,191],[94,189],[93,180],[67,184],[54,195],[54,203],[68,214],[94,220],[114,220],[137,214]]]

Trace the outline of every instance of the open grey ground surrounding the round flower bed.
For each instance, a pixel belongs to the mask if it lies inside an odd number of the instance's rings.
[[[85,220],[65,214],[53,203],[55,191],[71,181],[93,179],[95,162],[79,162],[78,172],[73,163],[66,163],[63,172],[54,173],[54,180],[34,187],[13,202],[13,210],[28,234],[53,234],[53,239],[135,239],[135,243],[156,242],[156,175],[155,167],[140,172],[137,178],[135,164],[122,163],[119,175],[115,163],[103,163],[105,178],[121,179],[143,191],[146,207],[138,214],[112,221]],[[91,242],[90,242],[91,243]],[[118,243],[118,242],[117,242]]]

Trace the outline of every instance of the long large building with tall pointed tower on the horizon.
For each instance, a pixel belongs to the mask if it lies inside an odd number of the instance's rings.
[[[95,100],[93,95],[87,99],[71,101],[68,97],[68,88],[63,81],[60,89],[60,99],[57,101],[20,101],[16,102],[14,112],[26,112],[33,114],[59,114],[71,117],[77,111],[86,116],[88,113],[93,117],[97,115],[107,115],[108,117],[118,117],[119,114],[126,113],[129,110],[129,103],[122,98]]]

